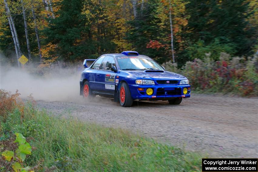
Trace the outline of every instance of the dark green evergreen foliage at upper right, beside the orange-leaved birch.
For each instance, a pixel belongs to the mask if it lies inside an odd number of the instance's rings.
[[[187,29],[191,32],[185,36],[191,44],[202,40],[209,45],[217,40],[220,46],[230,44],[234,47],[237,56],[248,54],[256,42],[252,38],[255,29],[247,20],[249,3],[245,0],[189,0],[186,12],[191,17]]]

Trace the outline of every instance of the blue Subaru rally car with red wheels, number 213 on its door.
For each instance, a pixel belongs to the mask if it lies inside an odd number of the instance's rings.
[[[88,65],[89,62],[93,63]],[[121,106],[130,107],[133,100],[168,100],[180,104],[190,97],[186,77],[168,72],[148,56],[135,51],[104,54],[98,59],[85,59],[81,73],[80,95],[114,97]]]

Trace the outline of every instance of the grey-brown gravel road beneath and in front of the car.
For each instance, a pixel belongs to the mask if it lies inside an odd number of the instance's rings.
[[[37,101],[53,114],[120,127],[213,158],[257,158],[258,99],[193,94],[180,105],[134,102],[124,108],[108,98]]]

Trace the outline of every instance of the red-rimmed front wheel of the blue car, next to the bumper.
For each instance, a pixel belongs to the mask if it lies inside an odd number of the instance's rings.
[[[131,92],[127,83],[122,83],[119,87],[119,102],[123,107],[131,107],[134,100],[131,97]]]

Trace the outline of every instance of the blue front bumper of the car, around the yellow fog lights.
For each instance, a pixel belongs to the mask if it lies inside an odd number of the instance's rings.
[[[139,91],[138,88],[143,88],[143,91]],[[146,94],[146,89],[153,89],[152,95]],[[183,89],[187,88],[187,94],[183,93]],[[129,84],[131,96],[133,99],[139,100],[169,100],[176,97],[189,98],[191,93],[190,85],[137,85]]]

